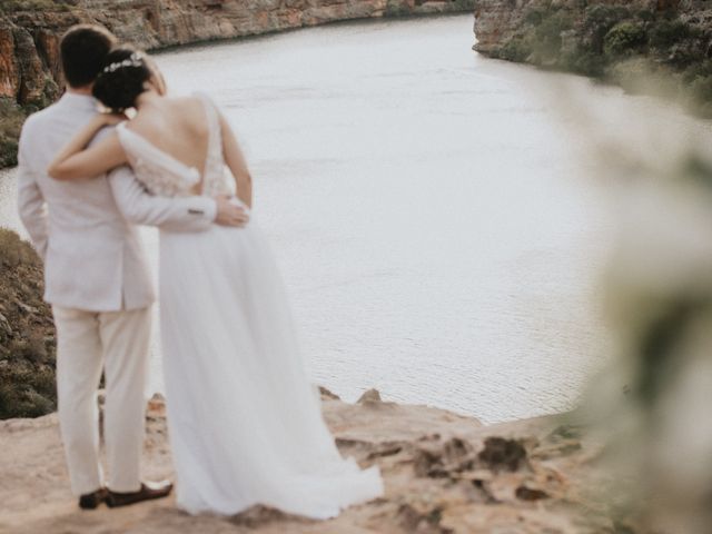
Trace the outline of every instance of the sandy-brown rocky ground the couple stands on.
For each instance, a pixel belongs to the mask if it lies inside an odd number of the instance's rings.
[[[613,533],[624,525],[591,496],[600,446],[558,417],[483,426],[424,406],[347,404],[323,390],[327,424],[345,456],[378,465],[383,498],[313,522],[267,508],[190,517],[174,498],[80,512],[68,491],[57,417],[0,423],[0,532],[131,533]],[[171,477],[162,399],[149,403],[145,473]],[[110,526],[109,526],[110,525]]]

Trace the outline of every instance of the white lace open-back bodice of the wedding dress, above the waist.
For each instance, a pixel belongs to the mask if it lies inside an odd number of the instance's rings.
[[[197,184],[201,184],[200,189],[204,196],[234,194],[222,157],[222,136],[217,108],[207,95],[196,93],[196,97],[202,101],[208,120],[208,154],[202,177],[195,167],[188,167],[152,145],[145,137],[127,128],[126,122],[117,127],[119,141],[136,177],[152,195],[161,197],[190,196]]]

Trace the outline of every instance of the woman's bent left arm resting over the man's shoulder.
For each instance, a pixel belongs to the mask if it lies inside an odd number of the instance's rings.
[[[119,136],[112,134],[89,147],[93,137],[105,126],[113,126],[119,118],[98,115],[60,150],[47,169],[47,174],[57,180],[77,180],[103,175],[110,169],[127,162],[126,152]]]

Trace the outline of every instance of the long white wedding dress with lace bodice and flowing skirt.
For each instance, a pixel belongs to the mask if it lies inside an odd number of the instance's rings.
[[[202,195],[231,192],[217,109]],[[145,138],[118,127],[136,176],[156,195],[200,180]],[[377,497],[377,467],[344,459],[298,354],[283,281],[254,218],[245,228],[160,234],[160,319],[178,505],[236,514],[264,504],[314,518]]]

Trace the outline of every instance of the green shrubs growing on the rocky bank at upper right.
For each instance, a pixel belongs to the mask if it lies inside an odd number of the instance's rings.
[[[545,3],[531,8],[516,36],[493,56],[673,97],[691,111],[712,117],[709,37],[674,11]]]

